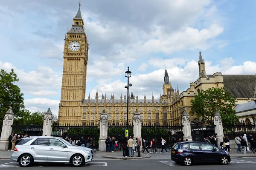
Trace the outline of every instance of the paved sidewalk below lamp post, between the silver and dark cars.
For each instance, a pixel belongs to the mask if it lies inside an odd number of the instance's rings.
[[[138,153],[134,153],[134,157],[123,157],[122,152],[105,152],[105,151],[96,151],[94,153],[96,156],[102,157],[102,158],[111,158],[111,159],[143,159],[143,158],[150,158],[151,154],[148,155],[146,152],[144,154],[140,152],[140,157],[138,156]]]

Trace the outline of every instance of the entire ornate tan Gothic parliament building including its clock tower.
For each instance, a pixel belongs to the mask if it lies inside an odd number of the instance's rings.
[[[222,75],[216,72],[207,75],[205,63],[199,52],[198,79],[189,84],[184,92],[174,90],[167,70],[163,73],[163,95],[160,99],[154,99],[154,95],[139,99],[138,95],[131,96],[111,95],[107,99],[106,94],[100,96],[98,91],[95,96],[84,99],[87,76],[87,61],[89,43],[84,31],[84,22],[79,10],[73,17],[72,28],[67,32],[64,43],[64,64],[61,86],[61,102],[59,104],[58,121],[60,124],[86,124],[98,125],[99,117],[105,109],[111,124],[126,125],[127,98],[129,101],[129,124],[132,124],[132,116],[136,109],[142,116],[143,124],[148,125],[176,125],[181,124],[184,110],[190,112],[190,101],[201,90],[211,87],[225,89],[236,97],[236,104],[253,101],[256,75]],[[254,80],[254,81],[252,81]],[[244,87],[244,88],[241,88]],[[192,121],[200,121],[191,118]]]

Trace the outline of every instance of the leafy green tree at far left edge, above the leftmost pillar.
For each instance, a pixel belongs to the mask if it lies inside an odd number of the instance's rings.
[[[3,69],[0,70],[0,121],[9,109],[12,108],[15,116],[20,114],[21,109],[24,108],[23,93],[20,88],[15,85],[19,79],[14,72],[7,73]]]

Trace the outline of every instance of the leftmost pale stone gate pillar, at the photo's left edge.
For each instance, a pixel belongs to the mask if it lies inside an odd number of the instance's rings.
[[[9,145],[8,138],[12,134],[13,120],[14,120],[14,115],[10,107],[3,117],[3,127],[2,127],[2,134],[0,138],[0,150],[8,150],[8,145]]]

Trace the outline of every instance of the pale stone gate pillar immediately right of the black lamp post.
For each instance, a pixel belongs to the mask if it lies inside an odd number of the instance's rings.
[[[133,117],[133,124],[134,124],[134,143],[136,142],[136,138],[139,137],[141,141],[140,151],[142,151],[142,138],[141,138],[141,117],[138,109],[136,109]]]

